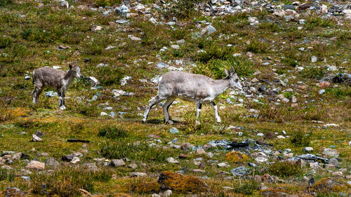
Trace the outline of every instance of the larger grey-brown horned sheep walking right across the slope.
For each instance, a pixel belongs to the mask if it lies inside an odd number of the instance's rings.
[[[143,122],[146,122],[147,116],[150,109],[155,104],[166,100],[162,105],[164,109],[164,118],[166,123],[173,124],[171,118],[168,114],[168,108],[171,106],[172,102],[179,98],[180,100],[187,100],[196,102],[197,104],[197,121],[201,112],[202,103],[210,103],[213,107],[216,120],[220,122],[220,116],[218,115],[218,110],[215,102],[213,100],[220,94],[222,94],[227,88],[238,88],[242,90],[239,77],[235,73],[234,69],[232,72],[230,70],[225,70],[227,76],[225,79],[213,80],[207,76],[199,74],[190,74],[186,72],[168,72],[161,76],[159,81],[159,93],[153,97],[144,113]]]

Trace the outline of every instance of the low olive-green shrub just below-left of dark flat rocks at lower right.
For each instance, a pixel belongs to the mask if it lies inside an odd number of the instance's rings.
[[[278,177],[298,177],[303,175],[303,169],[298,164],[286,161],[276,161],[268,165],[267,173]]]

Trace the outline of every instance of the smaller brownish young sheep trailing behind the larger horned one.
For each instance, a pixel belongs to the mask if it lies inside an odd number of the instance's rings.
[[[61,110],[65,107],[65,91],[71,86],[74,78],[80,78],[79,66],[69,64],[69,71],[63,72],[51,67],[41,67],[33,71],[34,91],[32,93],[33,103],[39,102],[39,95],[45,86],[50,86],[58,91]]]

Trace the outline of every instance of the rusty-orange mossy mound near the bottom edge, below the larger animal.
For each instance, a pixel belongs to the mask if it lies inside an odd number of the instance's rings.
[[[177,172],[164,171],[159,175],[159,184],[164,189],[171,189],[178,192],[206,192],[209,188],[206,183],[197,177],[182,175]]]

